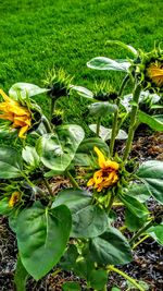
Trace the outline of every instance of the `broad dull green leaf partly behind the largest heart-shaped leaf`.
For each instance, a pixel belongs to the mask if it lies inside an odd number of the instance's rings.
[[[73,219],[73,238],[93,238],[105,231],[109,218],[104,210],[90,205],[91,195],[84,190],[66,189],[59,193],[52,207],[66,205]]]

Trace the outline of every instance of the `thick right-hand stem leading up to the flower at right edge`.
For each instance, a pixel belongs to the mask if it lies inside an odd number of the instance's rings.
[[[133,104],[131,111],[130,111],[130,125],[129,125],[129,130],[128,130],[128,138],[126,142],[126,147],[125,147],[125,151],[124,151],[124,156],[123,156],[124,162],[127,160],[128,155],[130,153],[134,134],[135,134],[135,131],[137,128],[137,111],[138,111],[138,101],[139,101],[140,92],[141,92],[141,86],[140,86],[140,84],[138,84],[138,85],[136,85],[135,92],[133,95],[133,102],[134,104]]]

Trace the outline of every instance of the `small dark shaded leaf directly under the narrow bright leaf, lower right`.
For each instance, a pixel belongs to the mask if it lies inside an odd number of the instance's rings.
[[[136,231],[147,221],[147,216],[137,217],[129,209],[125,209],[125,225],[129,231]]]

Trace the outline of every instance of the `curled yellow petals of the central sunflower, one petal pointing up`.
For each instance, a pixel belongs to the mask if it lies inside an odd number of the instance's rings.
[[[118,181],[118,163],[110,159],[105,159],[99,148],[95,147],[98,155],[100,170],[93,173],[93,177],[88,181],[87,186],[93,186],[98,192],[103,189],[114,185]]]

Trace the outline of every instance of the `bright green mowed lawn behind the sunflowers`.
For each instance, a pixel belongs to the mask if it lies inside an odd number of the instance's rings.
[[[127,56],[105,46],[108,39],[148,51],[163,35],[162,0],[3,0],[0,15],[0,87],[7,92],[16,82],[41,86],[53,66],[90,89],[108,78],[118,87],[122,73],[93,71],[86,62]],[[37,100],[46,105],[43,96]],[[85,102],[64,99],[66,119],[82,122]]]

